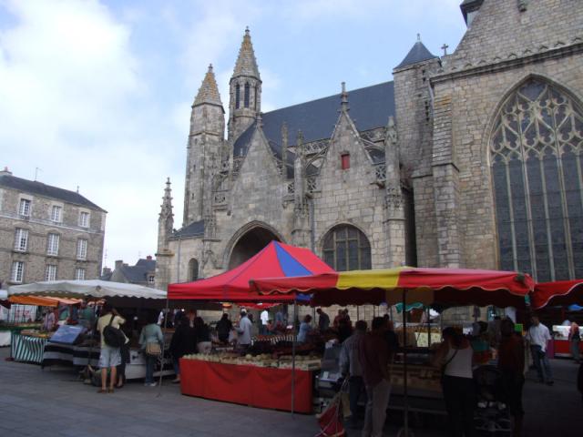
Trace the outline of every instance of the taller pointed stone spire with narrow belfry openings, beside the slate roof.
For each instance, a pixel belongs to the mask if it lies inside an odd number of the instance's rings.
[[[248,27],[240,45],[233,76],[230,77],[229,139],[239,137],[260,112],[261,76]]]

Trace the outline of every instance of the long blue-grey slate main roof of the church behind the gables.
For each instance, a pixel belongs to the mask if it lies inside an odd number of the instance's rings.
[[[390,116],[394,117],[394,84],[366,86],[348,93],[349,115],[356,128],[363,132],[376,127],[384,127]],[[283,107],[262,115],[263,133],[278,157],[281,157],[281,127],[287,124],[289,146],[294,146],[299,130],[302,130],[304,143],[319,139],[329,139],[340,109],[341,95],[334,94],[292,107]],[[233,146],[235,157],[247,153],[256,124],[248,127]],[[288,156],[289,158],[289,156]],[[289,159],[288,159],[289,160]]]

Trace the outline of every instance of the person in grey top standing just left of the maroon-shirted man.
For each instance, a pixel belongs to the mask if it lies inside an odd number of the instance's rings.
[[[360,343],[366,334],[366,328],[366,321],[358,320],[356,322],[353,335],[343,342],[343,349],[340,351],[340,370],[342,371],[343,377],[348,378],[349,384],[348,396],[350,400],[351,412],[350,426],[352,428],[356,428],[358,425],[358,400],[363,393],[364,398],[366,398],[363,369],[361,368],[361,363],[358,360],[358,351],[360,348]]]

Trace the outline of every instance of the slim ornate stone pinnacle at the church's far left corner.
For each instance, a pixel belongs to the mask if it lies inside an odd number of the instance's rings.
[[[169,237],[172,235],[172,229],[174,229],[174,213],[172,212],[172,188],[170,188],[170,178],[168,178],[158,219],[155,275],[155,286],[158,290],[166,290],[169,283],[169,263],[173,256],[172,250],[169,249]]]

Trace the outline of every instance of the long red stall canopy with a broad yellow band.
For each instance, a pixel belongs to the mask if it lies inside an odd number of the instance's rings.
[[[312,305],[389,305],[403,301],[425,305],[525,307],[534,280],[516,271],[481,269],[395,269],[330,272],[296,278],[255,279],[261,294],[312,294]]]

